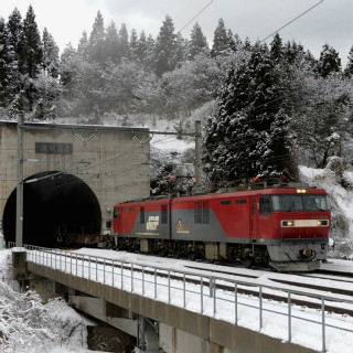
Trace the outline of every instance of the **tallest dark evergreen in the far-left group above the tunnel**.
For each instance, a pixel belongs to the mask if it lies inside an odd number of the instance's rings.
[[[35,14],[32,6],[29,7],[23,20],[23,31],[19,44],[19,68],[23,77],[23,88],[29,103],[29,110],[32,111],[36,99],[33,79],[35,79],[42,67],[42,41],[35,22]]]

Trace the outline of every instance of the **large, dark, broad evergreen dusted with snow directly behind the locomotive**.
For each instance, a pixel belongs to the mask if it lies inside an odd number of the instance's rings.
[[[203,162],[214,184],[239,184],[259,174],[296,178],[287,85],[265,45],[257,44],[247,62],[231,67],[204,140]]]

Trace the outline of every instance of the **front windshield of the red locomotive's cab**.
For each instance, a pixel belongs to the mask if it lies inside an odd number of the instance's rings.
[[[328,211],[325,195],[272,195],[272,211]]]

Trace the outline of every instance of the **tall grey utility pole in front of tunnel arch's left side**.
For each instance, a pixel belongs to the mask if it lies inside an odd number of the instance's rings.
[[[15,199],[15,246],[23,242],[23,111],[18,114],[18,186]]]

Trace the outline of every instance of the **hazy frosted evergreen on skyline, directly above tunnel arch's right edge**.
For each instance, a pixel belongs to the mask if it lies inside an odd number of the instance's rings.
[[[89,35],[88,41],[88,57],[89,61],[96,62],[99,65],[104,65],[106,55],[105,55],[105,39],[106,33],[104,29],[104,19],[98,11],[95,22],[93,24],[93,29]]]

